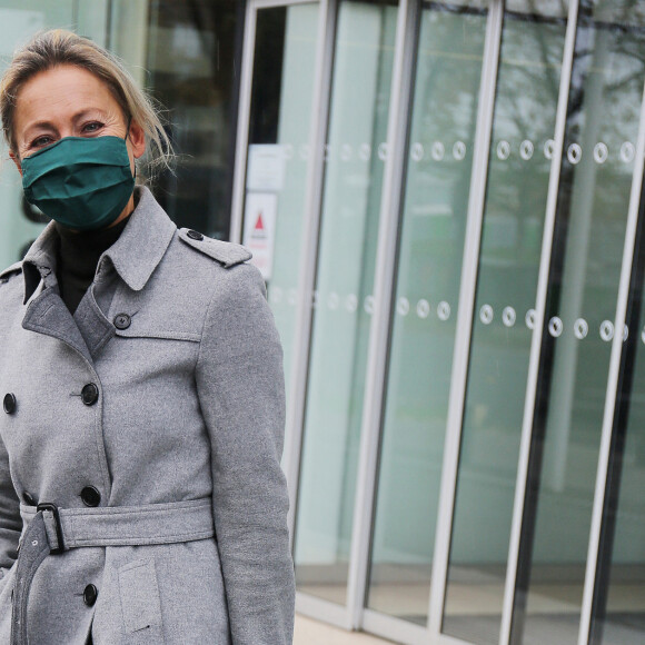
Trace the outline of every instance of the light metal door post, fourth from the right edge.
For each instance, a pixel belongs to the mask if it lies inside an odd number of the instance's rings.
[[[378,247],[375,261],[375,307],[369,330],[365,398],[354,524],[348,578],[349,627],[361,626],[367,575],[369,569],[371,523],[381,409],[386,383],[386,364],[390,331],[390,309],[397,254],[399,214],[403,200],[404,173],[409,131],[409,112],[416,34],[418,32],[418,0],[401,0],[395,43],[395,60],[387,127],[388,156],[385,163],[380,200]]]

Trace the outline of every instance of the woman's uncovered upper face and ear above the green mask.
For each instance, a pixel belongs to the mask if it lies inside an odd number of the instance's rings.
[[[72,64],[54,67],[29,79],[18,92],[10,156],[22,173],[20,159],[64,137],[126,137],[119,103],[93,73]],[[146,138],[132,121],[127,139],[130,166],[143,155]]]

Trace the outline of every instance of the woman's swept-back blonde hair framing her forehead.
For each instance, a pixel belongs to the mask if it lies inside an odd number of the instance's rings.
[[[172,146],[152,99],[137,86],[117,57],[66,29],[37,33],[16,51],[0,81],[0,119],[4,139],[12,150],[16,150],[13,125],[20,89],[37,73],[60,64],[80,67],[102,80],[119,103],[126,121],[136,121],[143,129],[150,170],[153,172],[159,167],[170,166]]]

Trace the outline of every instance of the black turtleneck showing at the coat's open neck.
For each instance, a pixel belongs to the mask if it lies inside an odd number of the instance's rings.
[[[72,231],[54,225],[60,236],[56,277],[60,297],[73,314],[95,279],[99,258],[118,239],[130,217],[100,230]]]

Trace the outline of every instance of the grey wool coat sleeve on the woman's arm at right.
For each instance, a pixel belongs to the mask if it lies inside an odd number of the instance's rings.
[[[234,645],[287,645],[294,628],[288,495],[280,468],[282,350],[255,267],[222,271],[197,388],[210,434],[215,529]]]

